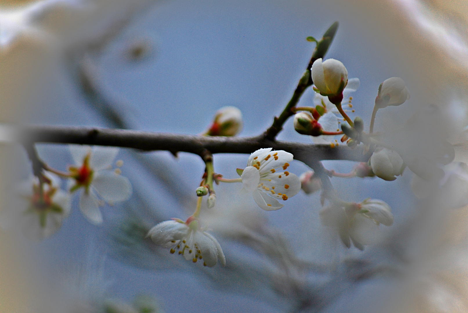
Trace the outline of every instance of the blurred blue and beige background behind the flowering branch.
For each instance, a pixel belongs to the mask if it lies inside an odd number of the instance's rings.
[[[281,112],[307,66],[314,44],[306,37],[319,38],[339,21],[327,57],[342,61],[349,78],[360,79],[352,94],[353,117],[361,116],[367,128],[379,84],[398,76],[411,99],[379,111],[377,130],[402,125],[421,106],[437,104],[453,116],[451,142],[466,139],[468,11],[463,1],[69,0],[48,1],[55,6],[29,19],[8,15],[33,2],[1,2],[3,122],[198,134],[216,110],[235,106],[244,119],[240,135],[258,135]],[[42,32],[31,31],[36,26],[59,41],[51,44]],[[313,99],[309,89],[300,106],[312,105]],[[294,131],[292,120],[278,139],[312,142]],[[66,146],[37,149],[56,169],[72,164]],[[245,167],[247,157],[215,155],[215,171],[235,178],[235,168]],[[418,262],[427,252],[418,252],[432,237],[417,231],[429,222],[415,222],[421,203],[409,188],[410,171],[394,182],[332,178],[343,199],[371,197],[392,207],[394,225],[382,228],[363,252],[344,248],[321,226],[317,193],[301,192],[281,210],[264,212],[253,201],[237,199],[240,185],[219,185],[216,206],[204,212],[227,267],[207,269],[141,236],[160,221],[191,214],[202,160],[127,149],[117,159],[124,161],[122,174],[132,182],[133,195],[123,204],[104,206],[102,226],[89,224],[74,198],[71,215],[51,238],[30,242],[2,235],[2,251],[14,250],[2,254],[22,262],[1,258],[2,272],[10,273],[1,281],[18,285],[0,289],[1,312],[36,312],[37,303],[63,300],[57,299],[62,294],[55,292],[56,283],[82,271],[91,277],[80,285],[84,291],[73,293],[85,294],[80,301],[88,301],[86,295],[95,290],[125,303],[146,295],[160,312],[382,312],[395,310],[390,304],[408,290],[404,273],[425,266]],[[5,177],[27,177],[24,154],[14,163]],[[348,172],[354,164],[324,165]],[[298,176],[307,170],[297,161],[290,167]],[[457,227],[465,229],[461,221],[466,218],[458,214]],[[468,264],[460,262],[465,269]],[[27,275],[15,275],[12,263]],[[436,307],[430,304],[421,312],[463,312],[465,289],[456,289],[455,309],[430,311]],[[453,302],[453,297],[442,298]]]

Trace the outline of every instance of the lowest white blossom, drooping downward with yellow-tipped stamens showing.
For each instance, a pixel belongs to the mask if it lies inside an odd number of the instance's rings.
[[[186,222],[173,219],[163,221],[148,232],[157,245],[171,248],[170,253],[182,255],[185,260],[197,262],[203,260],[203,265],[212,267],[219,260],[226,265],[223,249],[212,235],[200,228],[197,220],[189,218]]]

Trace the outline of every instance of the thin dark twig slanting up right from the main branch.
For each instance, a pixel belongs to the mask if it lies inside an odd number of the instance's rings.
[[[317,46],[312,52],[312,57],[310,58],[309,64],[307,64],[307,69],[302,78],[299,80],[299,84],[294,90],[292,94],[291,100],[289,100],[288,104],[284,108],[283,112],[279,115],[279,117],[275,117],[273,120],[273,124],[268,128],[264,133],[263,136],[265,139],[274,140],[276,135],[283,129],[283,124],[285,121],[294,114],[291,110],[296,104],[299,102],[302,93],[307,89],[307,87],[311,86],[314,82],[312,81],[312,73],[311,67],[314,64],[315,60],[323,58],[328,51],[328,48],[333,41],[333,37],[335,37],[336,30],[338,29],[338,22],[334,22],[323,34],[321,40],[317,42]]]

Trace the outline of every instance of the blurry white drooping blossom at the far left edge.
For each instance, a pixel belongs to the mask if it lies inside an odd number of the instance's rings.
[[[13,224],[22,226],[23,233],[30,239],[42,240],[55,234],[70,213],[70,196],[60,190],[60,178],[43,174],[50,184],[39,184],[39,178],[31,176],[18,188],[14,207],[1,217],[1,225],[8,228]]]

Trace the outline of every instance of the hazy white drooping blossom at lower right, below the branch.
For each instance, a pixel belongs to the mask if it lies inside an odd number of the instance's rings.
[[[346,247],[353,245],[364,249],[377,235],[380,224],[393,224],[390,206],[382,200],[366,199],[361,203],[330,205],[320,211],[322,225],[337,228],[341,241]]]

